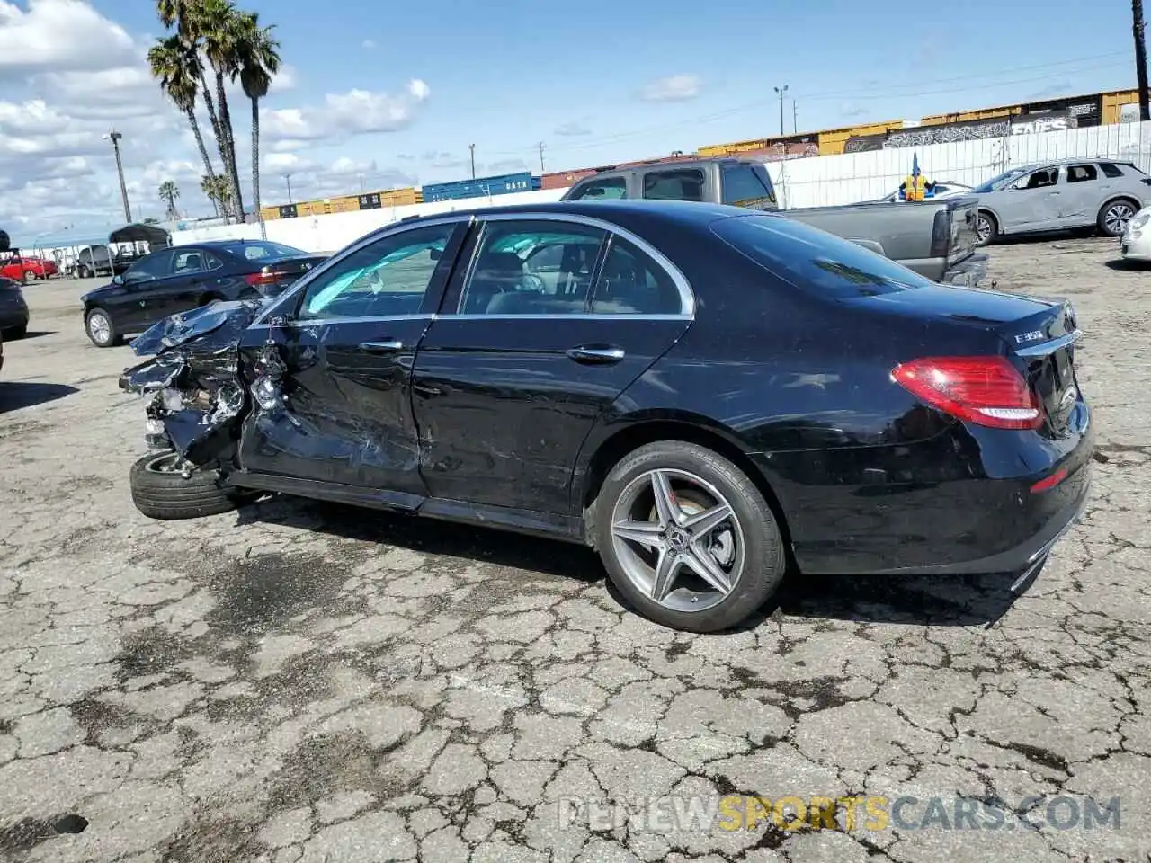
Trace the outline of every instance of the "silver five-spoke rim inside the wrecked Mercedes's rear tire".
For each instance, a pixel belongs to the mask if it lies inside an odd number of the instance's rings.
[[[722,602],[744,567],[739,518],[715,486],[681,469],[633,479],[616,502],[611,537],[624,574],[673,611]]]

